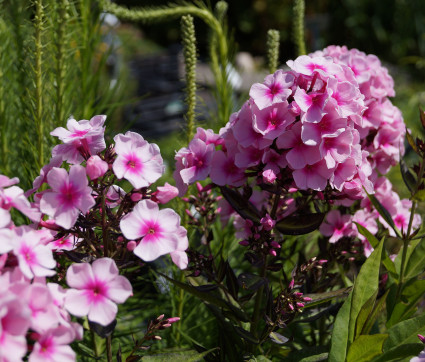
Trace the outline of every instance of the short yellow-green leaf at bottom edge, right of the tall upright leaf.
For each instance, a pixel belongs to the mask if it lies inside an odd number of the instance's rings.
[[[382,346],[388,334],[373,334],[360,336],[350,346],[347,362],[366,362],[382,353]]]

